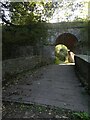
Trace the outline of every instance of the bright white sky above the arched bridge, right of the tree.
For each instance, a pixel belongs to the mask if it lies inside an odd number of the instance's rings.
[[[5,0],[1,0],[1,1],[5,1]],[[11,0],[11,1],[17,1],[17,0]],[[25,1],[28,1],[28,0],[25,0]],[[35,1],[35,0],[33,0],[33,1]],[[46,0],[46,2],[47,1],[52,1],[52,2],[62,1],[61,5],[63,5],[63,7],[59,7],[55,10],[53,16],[51,17],[51,19],[49,19],[50,23],[57,23],[57,22],[62,22],[62,21],[67,22],[66,16],[67,17],[70,16],[70,17],[68,17],[68,20],[73,21],[75,19],[75,17],[86,18],[89,15],[89,10],[90,10],[88,7],[89,0]],[[67,7],[67,5],[72,1],[73,1],[72,7],[74,9],[74,12],[71,10],[72,8]],[[18,0],[18,2],[19,2],[19,0]],[[77,3],[79,4],[80,2],[83,3],[82,8],[80,8],[78,6],[77,9],[75,10],[75,5]],[[9,12],[5,11],[5,14],[8,16]],[[8,19],[9,19],[9,17],[8,17]]]

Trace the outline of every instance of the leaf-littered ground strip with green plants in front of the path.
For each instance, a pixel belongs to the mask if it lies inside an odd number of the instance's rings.
[[[20,98],[22,99],[22,98]],[[17,103],[3,103],[3,117],[6,115],[10,116],[19,116],[23,117],[23,113],[28,113],[31,118],[53,118],[53,119],[60,119],[60,120],[90,120],[90,117],[87,113],[82,113],[83,115],[75,115],[76,112],[62,109],[55,106],[50,105],[40,105],[40,104],[17,104]],[[27,115],[28,115],[27,114]],[[77,112],[79,114],[79,112]],[[80,113],[81,114],[81,113]],[[84,115],[85,114],[85,115]],[[79,116],[79,117],[77,117]],[[82,116],[82,117],[81,117]]]

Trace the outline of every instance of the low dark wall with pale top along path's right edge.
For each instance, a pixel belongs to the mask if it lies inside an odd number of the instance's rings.
[[[90,56],[75,55],[75,71],[79,77],[82,85],[88,87],[90,92],[90,79],[89,79]]]

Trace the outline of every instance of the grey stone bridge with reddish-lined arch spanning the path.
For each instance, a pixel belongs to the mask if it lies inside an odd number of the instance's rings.
[[[48,28],[47,39],[49,45],[43,46],[43,55],[55,57],[55,45],[59,43],[65,44],[65,41],[68,42],[67,47],[69,46],[70,48],[73,46],[72,42],[77,41],[73,48],[71,48],[75,54],[89,54],[89,49],[87,49],[89,43],[88,28],[83,22],[46,24],[46,27]],[[64,42],[62,42],[63,39]]]

